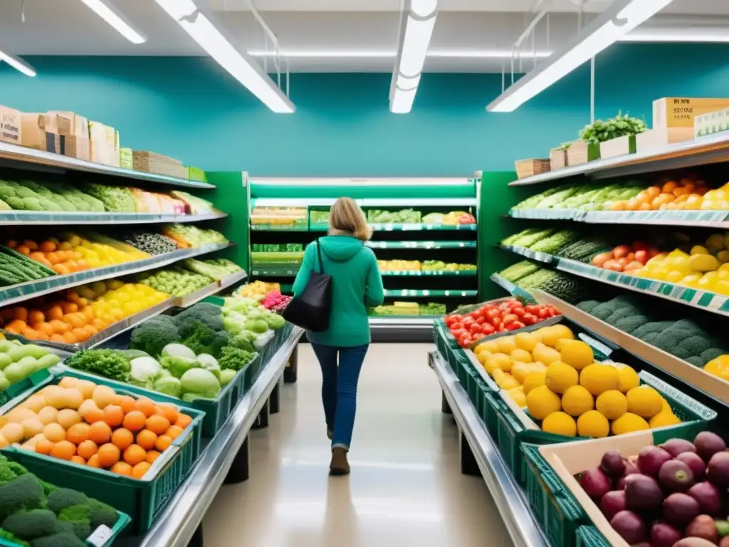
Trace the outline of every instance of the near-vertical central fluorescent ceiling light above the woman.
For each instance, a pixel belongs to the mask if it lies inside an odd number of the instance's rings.
[[[437,15],[437,0],[405,0],[397,61],[390,85],[390,111],[413,108]]]

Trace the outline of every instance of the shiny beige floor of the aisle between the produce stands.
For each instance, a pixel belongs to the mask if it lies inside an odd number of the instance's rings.
[[[308,344],[281,413],[252,432],[251,479],[223,486],[207,547],[471,547],[511,541],[480,478],[462,476],[458,435],[440,412],[429,344],[376,344],[359,382],[352,473],[332,477]]]

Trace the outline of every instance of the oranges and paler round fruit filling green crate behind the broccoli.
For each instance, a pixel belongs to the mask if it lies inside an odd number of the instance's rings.
[[[192,423],[174,405],[74,376],[47,384],[0,418],[4,446],[20,443],[23,450],[133,478],[143,478]]]

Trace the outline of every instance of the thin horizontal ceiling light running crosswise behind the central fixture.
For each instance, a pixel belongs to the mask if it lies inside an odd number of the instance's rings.
[[[281,50],[265,51],[250,50],[252,57],[278,57],[281,55],[289,59],[389,59],[397,57],[397,51],[378,50]],[[531,51],[515,52],[514,58],[546,58],[551,55],[548,51],[537,51],[532,55]],[[428,50],[426,57],[444,59],[510,59],[510,50]]]

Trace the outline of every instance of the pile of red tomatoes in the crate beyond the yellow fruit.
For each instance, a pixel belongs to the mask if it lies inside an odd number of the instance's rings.
[[[488,303],[467,314],[445,316],[445,325],[459,346],[467,347],[473,342],[504,330],[517,330],[559,315],[554,306],[546,304],[527,304],[516,298],[501,303]]]

